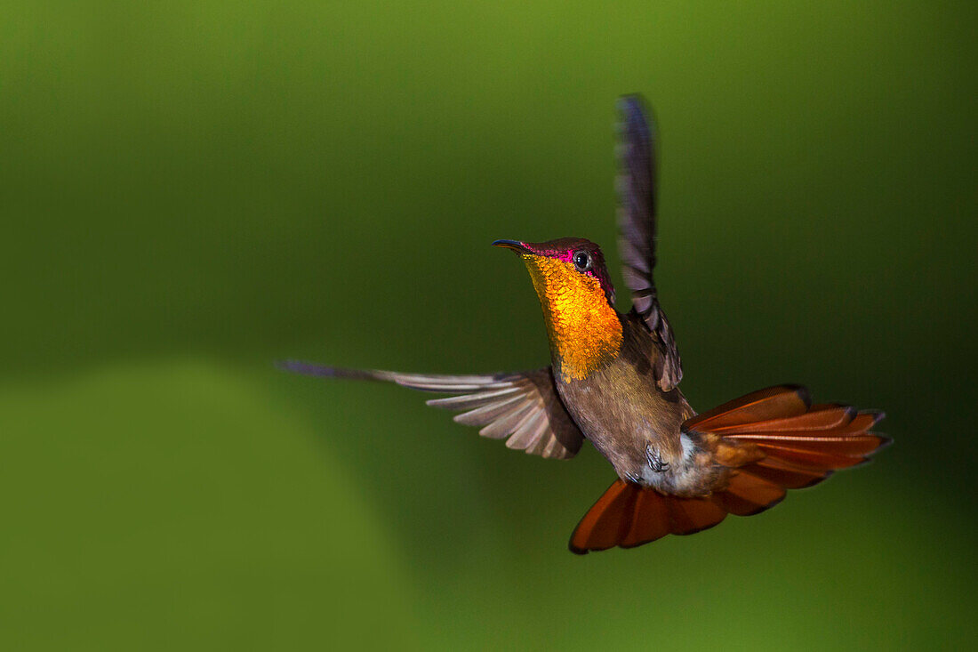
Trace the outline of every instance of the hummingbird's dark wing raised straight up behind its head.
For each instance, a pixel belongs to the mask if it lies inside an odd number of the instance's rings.
[[[672,327],[659,305],[655,267],[655,131],[638,96],[623,97],[618,146],[618,249],[633,312],[642,319],[658,351],[655,374],[664,392],[683,379],[683,364]]]

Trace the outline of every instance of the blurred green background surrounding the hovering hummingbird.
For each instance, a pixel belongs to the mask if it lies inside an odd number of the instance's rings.
[[[974,644],[972,2],[0,5],[0,645]],[[661,131],[700,409],[779,382],[896,443],[586,557],[612,479],[276,371],[546,363],[496,238],[615,265],[614,101]],[[617,269],[614,270],[615,278]],[[627,300],[626,300],[627,304]]]

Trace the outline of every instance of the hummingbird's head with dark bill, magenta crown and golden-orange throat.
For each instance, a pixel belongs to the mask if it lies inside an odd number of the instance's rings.
[[[581,380],[621,349],[622,326],[600,247],[584,238],[497,240],[526,264],[547,323],[556,368]]]

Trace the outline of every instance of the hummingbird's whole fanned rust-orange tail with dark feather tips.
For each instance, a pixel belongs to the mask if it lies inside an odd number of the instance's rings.
[[[813,405],[805,388],[789,385],[724,403],[683,424],[690,435],[719,435],[725,445],[754,451],[723,489],[686,498],[616,480],[578,524],[570,549],[585,554],[616,545],[631,548],[706,530],[728,513],[759,514],[777,505],[785,489],[812,487],[835,469],[867,462],[890,442],[869,432],[882,418],[882,412],[848,405]]]

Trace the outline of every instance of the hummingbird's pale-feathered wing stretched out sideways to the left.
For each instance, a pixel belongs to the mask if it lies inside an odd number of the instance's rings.
[[[295,360],[279,366],[307,376],[389,381],[424,392],[454,395],[431,398],[427,404],[461,411],[454,417],[459,423],[482,426],[479,435],[494,440],[509,438],[507,446],[534,455],[570,459],[584,442],[556,396],[550,367],[512,374],[446,376],[339,369]]]

